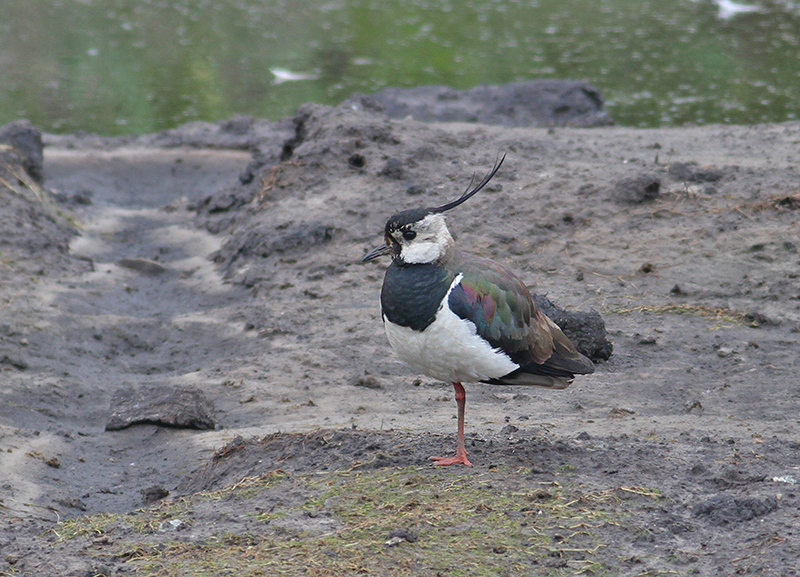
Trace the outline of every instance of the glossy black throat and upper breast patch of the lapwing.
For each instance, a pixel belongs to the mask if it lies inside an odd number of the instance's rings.
[[[381,309],[391,323],[422,332],[436,311],[455,275],[440,264],[392,262],[381,289]]]

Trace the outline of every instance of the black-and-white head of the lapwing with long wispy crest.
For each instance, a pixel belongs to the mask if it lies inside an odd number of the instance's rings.
[[[412,208],[398,212],[386,221],[384,244],[374,248],[362,260],[389,254],[403,264],[427,264],[442,261],[453,247],[453,237],[447,230],[444,212],[471,198],[486,186],[505,160],[503,155],[494,168],[476,186],[470,182],[458,199],[435,208]]]

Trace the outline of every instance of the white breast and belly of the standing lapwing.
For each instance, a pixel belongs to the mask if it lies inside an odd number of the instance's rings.
[[[423,332],[393,324],[384,317],[389,344],[401,359],[421,373],[445,382],[497,379],[519,368],[507,354],[483,340],[475,324],[447,306],[450,291],[461,282],[458,275],[434,320]]]

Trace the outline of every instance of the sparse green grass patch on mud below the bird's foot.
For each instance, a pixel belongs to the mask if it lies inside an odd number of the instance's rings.
[[[250,533],[239,534],[228,523],[215,531],[209,502],[246,511],[254,498],[270,506],[254,515],[263,530],[251,523]],[[103,555],[125,560],[136,575],[599,576],[612,573],[604,532],[629,517],[632,501],[659,498],[637,487],[598,492],[537,483],[510,468],[279,473],[125,515],[66,521],[59,531],[62,539],[108,533],[113,545]],[[192,519],[191,530],[156,530],[171,518]],[[318,518],[331,521],[287,524]],[[117,543],[113,534],[127,528],[141,538]],[[203,536],[193,538],[195,530]],[[398,530],[416,540],[387,545]]]

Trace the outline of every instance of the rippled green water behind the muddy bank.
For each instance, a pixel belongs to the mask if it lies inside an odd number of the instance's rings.
[[[0,0],[0,124],[145,133],[386,86],[584,79],[630,126],[800,115],[800,8],[710,0]],[[307,76],[277,82],[272,70]]]

